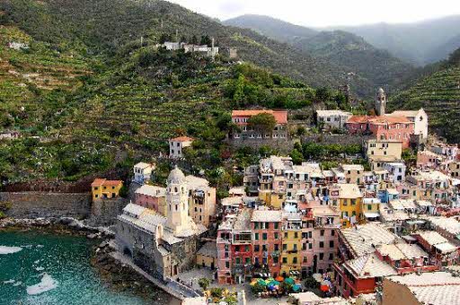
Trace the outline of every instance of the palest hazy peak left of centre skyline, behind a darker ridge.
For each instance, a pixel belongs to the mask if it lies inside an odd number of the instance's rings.
[[[255,30],[262,35],[282,42],[292,42],[296,39],[308,39],[318,32],[270,16],[246,14],[223,22],[243,29]]]

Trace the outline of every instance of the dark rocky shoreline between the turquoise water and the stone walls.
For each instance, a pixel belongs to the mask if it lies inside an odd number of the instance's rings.
[[[102,280],[119,292],[131,292],[147,303],[168,304],[172,296],[137,274],[130,266],[120,263],[110,256],[113,247],[114,232],[104,227],[91,227],[73,218],[37,218],[0,220],[1,231],[40,231],[44,234],[84,236],[94,240],[91,265],[100,274]],[[98,244],[96,240],[101,240]]]

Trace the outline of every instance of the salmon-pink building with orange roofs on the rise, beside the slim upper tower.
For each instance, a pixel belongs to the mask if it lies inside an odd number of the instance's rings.
[[[408,148],[414,134],[414,122],[397,116],[353,116],[347,121],[350,134],[375,135],[378,140],[398,140]]]

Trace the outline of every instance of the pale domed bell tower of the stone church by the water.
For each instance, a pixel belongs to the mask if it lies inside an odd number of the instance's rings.
[[[166,205],[168,211],[166,229],[175,236],[187,236],[194,233],[196,226],[189,216],[189,190],[181,170],[171,170],[166,187]]]

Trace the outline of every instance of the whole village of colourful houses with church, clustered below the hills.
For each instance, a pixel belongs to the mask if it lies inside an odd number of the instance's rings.
[[[325,170],[314,160],[270,155],[217,199],[217,187],[177,165],[164,186],[155,185],[155,162],[140,162],[131,181],[95,179],[93,204],[111,205],[130,183],[130,202],[116,216],[117,252],[187,296],[184,303],[454,303],[458,147],[429,135],[423,109],[387,114],[386,106],[380,89],[374,116],[316,111],[323,133],[362,138],[363,155],[349,163]],[[273,130],[248,124],[260,115],[275,119]],[[287,111],[238,109],[232,121],[234,145],[289,141]],[[170,140],[173,163],[193,141]],[[418,153],[408,163],[403,152],[410,148]]]

